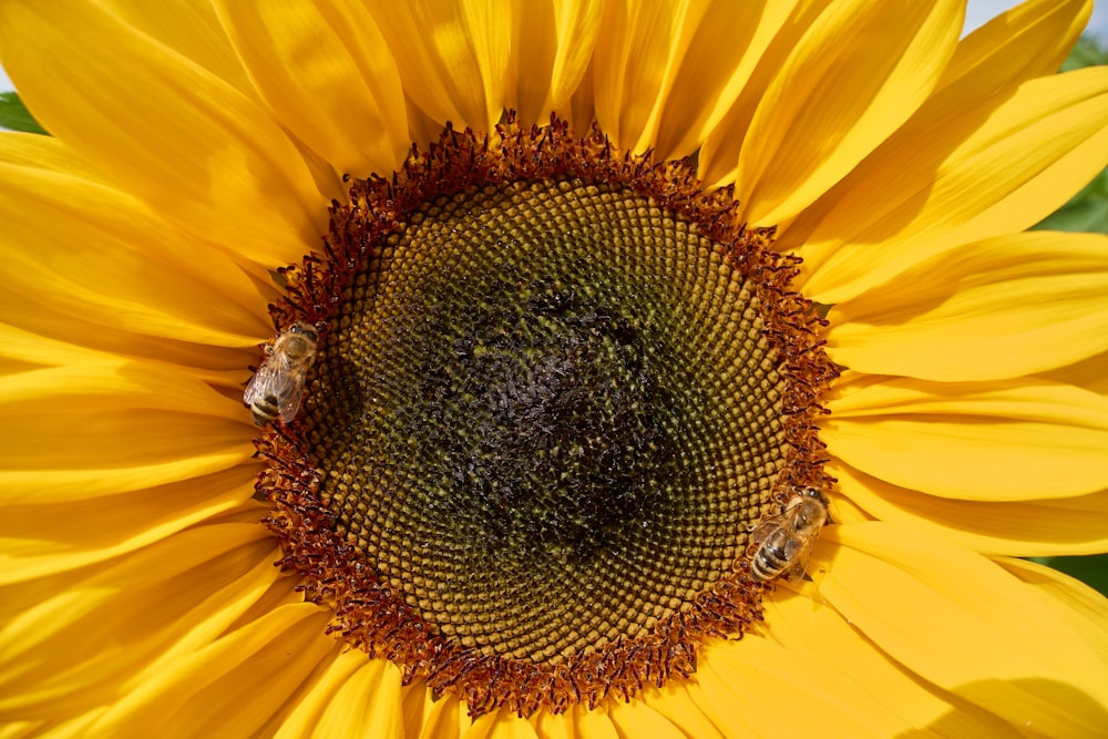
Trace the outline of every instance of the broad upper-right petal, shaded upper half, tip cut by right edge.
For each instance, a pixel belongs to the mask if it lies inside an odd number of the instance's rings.
[[[1099,173],[1106,152],[1108,69],[1030,80],[999,104],[940,95],[782,244],[803,244],[808,297],[842,302],[955,246],[1028,228]],[[879,255],[894,258],[874,265]]]

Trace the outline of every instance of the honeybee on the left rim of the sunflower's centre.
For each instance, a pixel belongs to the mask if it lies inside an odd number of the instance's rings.
[[[266,359],[250,378],[243,402],[256,425],[280,420],[290,423],[300,410],[308,370],[316,361],[319,332],[310,324],[297,321],[266,347]]]

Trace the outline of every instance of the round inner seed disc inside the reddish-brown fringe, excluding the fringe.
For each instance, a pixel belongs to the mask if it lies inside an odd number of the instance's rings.
[[[408,605],[483,654],[554,664],[688,609],[782,460],[745,285],[617,186],[424,204],[317,361],[321,500]]]

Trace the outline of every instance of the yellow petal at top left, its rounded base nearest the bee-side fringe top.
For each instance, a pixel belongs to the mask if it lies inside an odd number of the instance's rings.
[[[218,10],[274,117],[339,172],[398,167],[410,146],[400,72],[365,8],[288,0]]]

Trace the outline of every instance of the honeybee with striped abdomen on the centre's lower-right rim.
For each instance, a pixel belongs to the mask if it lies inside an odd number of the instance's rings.
[[[759,583],[781,575],[801,577],[828,520],[828,499],[815,487],[796,487],[784,511],[750,533],[750,574]]]

